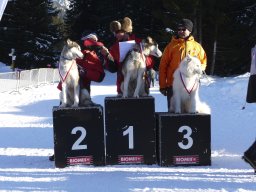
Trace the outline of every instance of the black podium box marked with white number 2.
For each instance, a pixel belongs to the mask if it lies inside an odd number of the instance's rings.
[[[103,107],[53,107],[54,154],[58,168],[105,165]]]

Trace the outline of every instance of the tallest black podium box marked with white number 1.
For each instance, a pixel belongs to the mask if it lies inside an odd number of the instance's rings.
[[[106,164],[155,164],[155,104],[151,96],[105,98]]]

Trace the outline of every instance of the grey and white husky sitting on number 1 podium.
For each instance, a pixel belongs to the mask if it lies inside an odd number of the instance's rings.
[[[151,37],[143,39],[140,44],[135,44],[134,48],[127,54],[122,66],[124,81],[121,84],[121,89],[123,98],[138,98],[148,95],[145,90],[145,56],[148,55],[162,56],[157,43]]]

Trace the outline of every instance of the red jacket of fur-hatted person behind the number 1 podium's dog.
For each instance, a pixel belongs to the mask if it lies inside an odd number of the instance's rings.
[[[135,40],[136,43],[140,43],[141,39],[136,38],[134,34],[130,35],[128,41]],[[106,63],[106,69],[110,72],[117,72],[117,79],[116,79],[116,86],[117,86],[117,93],[122,93],[121,91],[121,83],[124,81],[124,77],[122,74],[122,63],[119,62],[120,53],[119,53],[119,41],[116,41],[110,48],[109,53],[112,55],[114,62]],[[154,66],[154,59],[153,56],[146,57],[146,65],[147,68],[150,69]]]

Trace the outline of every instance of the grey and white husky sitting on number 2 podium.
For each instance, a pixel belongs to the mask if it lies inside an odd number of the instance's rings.
[[[78,107],[91,102],[90,94],[86,89],[80,90],[79,73],[76,64],[77,58],[83,58],[80,46],[71,40],[67,40],[63,47],[59,61],[59,74],[62,84],[60,92],[60,107]]]

